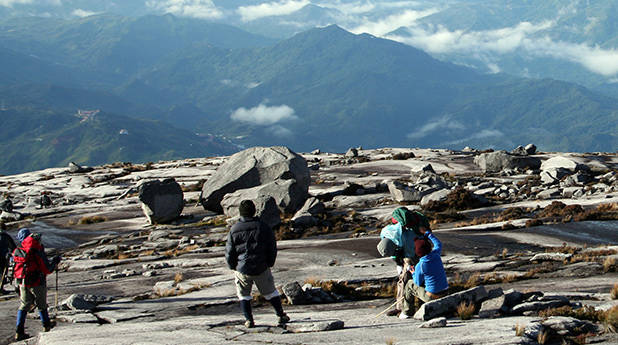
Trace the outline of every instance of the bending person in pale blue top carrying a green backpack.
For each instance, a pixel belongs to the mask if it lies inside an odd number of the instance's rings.
[[[411,278],[411,267],[419,261],[415,248],[417,246],[431,246],[421,234],[420,229],[429,229],[427,217],[418,211],[410,211],[406,207],[399,207],[392,213],[391,224],[380,232],[378,252],[382,256],[391,256],[397,264],[397,306],[387,313],[397,315],[404,307],[404,288]]]

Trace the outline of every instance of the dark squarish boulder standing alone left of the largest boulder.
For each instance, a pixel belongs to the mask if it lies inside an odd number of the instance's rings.
[[[173,178],[145,182],[138,192],[142,210],[150,224],[168,223],[182,213],[182,188]]]

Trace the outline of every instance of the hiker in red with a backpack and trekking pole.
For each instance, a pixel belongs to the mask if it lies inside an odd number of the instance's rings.
[[[17,233],[19,246],[13,251],[15,262],[14,277],[19,284],[20,305],[17,311],[15,340],[28,338],[25,332],[26,315],[36,305],[45,332],[49,332],[55,323],[49,319],[47,312],[47,279],[46,276],[57,269],[60,256],[47,259],[45,249],[40,241],[40,235],[30,233],[27,228]]]

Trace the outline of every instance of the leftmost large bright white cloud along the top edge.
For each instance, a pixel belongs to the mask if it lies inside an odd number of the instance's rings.
[[[146,6],[181,17],[218,19],[223,12],[212,0],[148,0]]]

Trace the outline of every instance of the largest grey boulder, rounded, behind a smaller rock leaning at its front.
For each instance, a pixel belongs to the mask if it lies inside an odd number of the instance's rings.
[[[223,213],[226,194],[278,180],[294,180],[294,198],[284,208],[296,211],[309,195],[307,161],[287,147],[252,147],[232,155],[204,183],[200,201],[205,209]],[[277,199],[275,197],[275,199]]]

